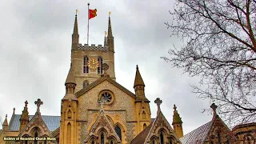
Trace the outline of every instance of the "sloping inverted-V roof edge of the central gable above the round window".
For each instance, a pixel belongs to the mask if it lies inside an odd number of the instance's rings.
[[[98,80],[90,83],[90,85],[86,86],[82,90],[79,90],[78,92],[75,93],[76,97],[80,97],[82,94],[85,94],[87,91],[91,90],[95,86],[98,86],[100,83],[102,83],[104,81],[110,82],[112,85],[118,87],[120,90],[122,90],[126,94],[135,98],[135,94],[130,92],[130,90],[127,90],[125,87],[121,86],[118,82],[115,82],[112,78],[107,78],[107,77],[98,78]]]

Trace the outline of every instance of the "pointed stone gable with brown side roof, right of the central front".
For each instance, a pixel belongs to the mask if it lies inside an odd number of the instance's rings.
[[[170,126],[170,123],[166,120],[165,116],[160,111],[157,115],[157,118],[154,119],[146,129],[142,130],[140,134],[138,134],[130,144],[138,144],[138,143],[147,143],[150,142],[150,138],[154,136],[158,136],[160,130],[166,130],[168,137],[174,138],[173,140],[179,143],[179,139],[176,134],[174,134],[173,128]]]

